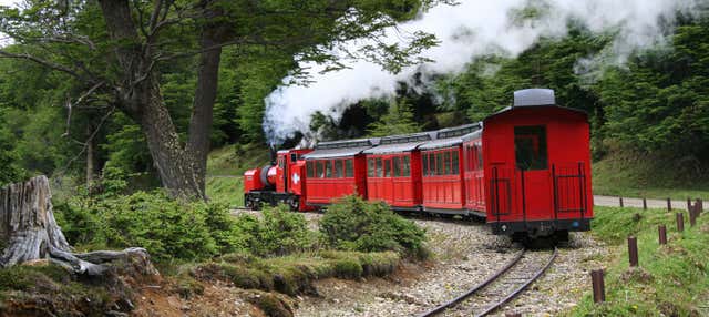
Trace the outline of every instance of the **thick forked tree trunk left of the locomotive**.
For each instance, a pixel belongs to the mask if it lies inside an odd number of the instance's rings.
[[[115,49],[123,72],[122,86],[116,89],[121,109],[141,125],[161,182],[169,194],[205,200],[206,164],[222,49],[205,50],[201,55],[189,137],[183,145],[152,70],[151,39],[145,43],[138,37],[129,1],[101,0],[100,4],[109,34],[122,43]],[[201,47],[215,47],[219,29],[204,28]]]

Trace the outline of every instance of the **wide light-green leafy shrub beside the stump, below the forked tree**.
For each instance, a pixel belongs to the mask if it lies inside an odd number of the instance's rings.
[[[84,247],[142,246],[158,262],[208,258],[243,247],[224,206],[184,204],[161,191],[79,196],[56,209],[66,238]]]

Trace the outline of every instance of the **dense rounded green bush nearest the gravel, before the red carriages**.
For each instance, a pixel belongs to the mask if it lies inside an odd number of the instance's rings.
[[[320,232],[338,249],[425,254],[423,228],[394,214],[383,203],[368,203],[358,196],[347,196],[328,207],[320,219]]]

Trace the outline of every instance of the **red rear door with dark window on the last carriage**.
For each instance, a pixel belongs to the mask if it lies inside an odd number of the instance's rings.
[[[514,151],[524,219],[548,218],[554,206],[546,126],[515,126]]]

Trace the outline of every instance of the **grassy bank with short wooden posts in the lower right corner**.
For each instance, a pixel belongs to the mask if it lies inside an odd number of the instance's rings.
[[[636,215],[639,215],[638,216]],[[677,232],[675,212],[596,207],[593,235],[612,255],[604,267],[606,303],[594,305],[590,290],[572,316],[706,316],[709,314],[709,215]],[[658,225],[668,244],[658,243]],[[639,268],[629,268],[627,237],[638,241]],[[589,268],[595,269],[595,268]],[[590,278],[590,277],[589,277]]]

